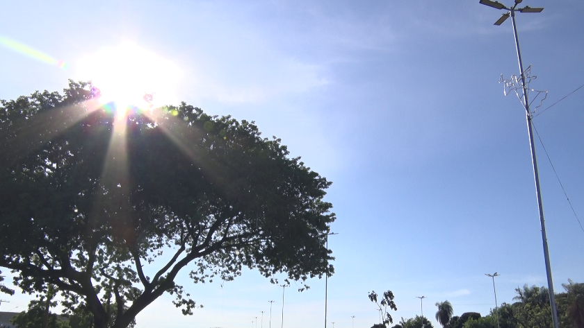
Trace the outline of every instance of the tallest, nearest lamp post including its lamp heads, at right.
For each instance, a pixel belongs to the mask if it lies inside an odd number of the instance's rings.
[[[517,8],[517,5],[521,3],[523,0],[515,0],[515,3],[512,7],[504,6],[503,3],[499,3],[497,1],[490,1],[490,0],[479,0],[479,3],[482,3],[485,6],[489,6],[496,9],[505,9],[508,10],[505,14],[501,16],[496,22],[495,25],[503,24],[505,19],[511,17],[511,22],[513,25],[513,35],[515,37],[515,48],[517,49],[517,60],[519,61],[519,71],[521,71],[521,85],[523,88],[523,95],[524,101],[523,105],[525,107],[526,112],[526,119],[527,119],[527,130],[529,134],[529,145],[531,148],[531,162],[533,163],[533,176],[535,178],[535,194],[537,196],[537,209],[540,212],[540,224],[542,226],[542,241],[544,244],[544,259],[546,263],[546,275],[548,280],[548,289],[549,289],[549,301],[551,306],[551,318],[553,319],[553,327],[558,328],[558,310],[555,307],[555,295],[553,293],[553,279],[551,277],[551,265],[549,261],[549,249],[547,243],[547,236],[546,236],[546,223],[544,220],[544,207],[542,205],[542,192],[540,191],[540,173],[537,171],[537,158],[535,157],[535,144],[533,143],[533,123],[532,123],[532,113],[529,110],[529,100],[527,94],[527,86],[525,83],[525,71],[523,68],[523,61],[521,60],[521,50],[519,49],[519,37],[517,37],[517,25],[515,24],[515,12],[542,12],[544,8],[531,8],[530,6],[525,6],[524,8]]]

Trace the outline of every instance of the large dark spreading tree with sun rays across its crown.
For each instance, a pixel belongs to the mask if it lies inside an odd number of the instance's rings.
[[[74,82],[1,101],[0,267],[24,292],[55,286],[96,328],[127,327],[163,293],[192,313],[184,268],[194,282],[243,266],[332,275],[329,186],[253,122],[185,103],[115,108]]]

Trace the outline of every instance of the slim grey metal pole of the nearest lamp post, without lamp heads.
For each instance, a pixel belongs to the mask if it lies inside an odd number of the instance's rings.
[[[517,6],[517,5],[516,5]],[[535,178],[535,193],[537,195],[537,209],[540,212],[540,224],[542,225],[542,241],[544,243],[544,259],[546,262],[546,275],[548,279],[549,301],[551,306],[551,318],[553,327],[558,328],[558,310],[555,306],[555,295],[553,293],[553,279],[551,277],[551,265],[549,261],[549,249],[546,236],[546,223],[544,220],[544,206],[542,205],[542,192],[540,190],[540,173],[537,171],[537,158],[535,157],[535,144],[533,142],[532,117],[529,110],[529,101],[527,98],[527,87],[525,85],[525,74],[523,62],[521,60],[521,50],[519,50],[519,37],[517,36],[517,26],[515,25],[515,10],[511,8],[511,21],[513,23],[513,34],[515,37],[515,46],[517,47],[517,59],[519,60],[519,70],[521,71],[521,84],[523,84],[524,102],[527,119],[527,130],[529,133],[529,145],[531,148],[531,161],[533,162],[533,176]]]

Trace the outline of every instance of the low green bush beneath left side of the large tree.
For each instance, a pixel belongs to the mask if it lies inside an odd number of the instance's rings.
[[[47,301],[43,297],[40,300],[32,300],[29,303],[29,310],[17,314],[10,322],[18,328],[40,328],[43,327],[43,320],[47,316],[47,328],[70,327],[67,320],[63,320],[56,314],[50,313],[46,306]]]

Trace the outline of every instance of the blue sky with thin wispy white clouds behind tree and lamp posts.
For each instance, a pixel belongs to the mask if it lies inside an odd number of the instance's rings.
[[[541,112],[584,85],[584,2],[523,4],[545,7],[517,14],[530,87],[549,91]],[[420,314],[424,295],[437,327],[435,302],[449,300],[458,316],[494,307],[485,273],[501,274],[499,303],[517,286],[546,285],[524,109],[498,83],[519,74],[510,19],[493,25],[503,11],[478,0],[23,0],[3,1],[2,12],[3,40],[67,65],[0,44],[0,98],[60,91],[67,78],[91,78],[83,58],[132,44],[172,63],[161,84],[172,99],[256,121],[331,180],[339,235],[329,241],[328,327],[350,328],[350,316],[355,327],[377,323],[372,290],[394,291],[396,321]],[[584,223],[583,100],[584,88],[534,123]],[[584,282],[584,231],[536,142],[560,292],[567,279]],[[268,327],[269,300],[282,325],[282,288],[257,272],[221,286],[192,284],[185,271],[181,282],[204,308],[184,317],[165,295],[139,328],[245,328],[260,311]],[[286,288],[284,327],[324,326],[325,282],[309,285]],[[27,304],[3,299],[2,311]]]

